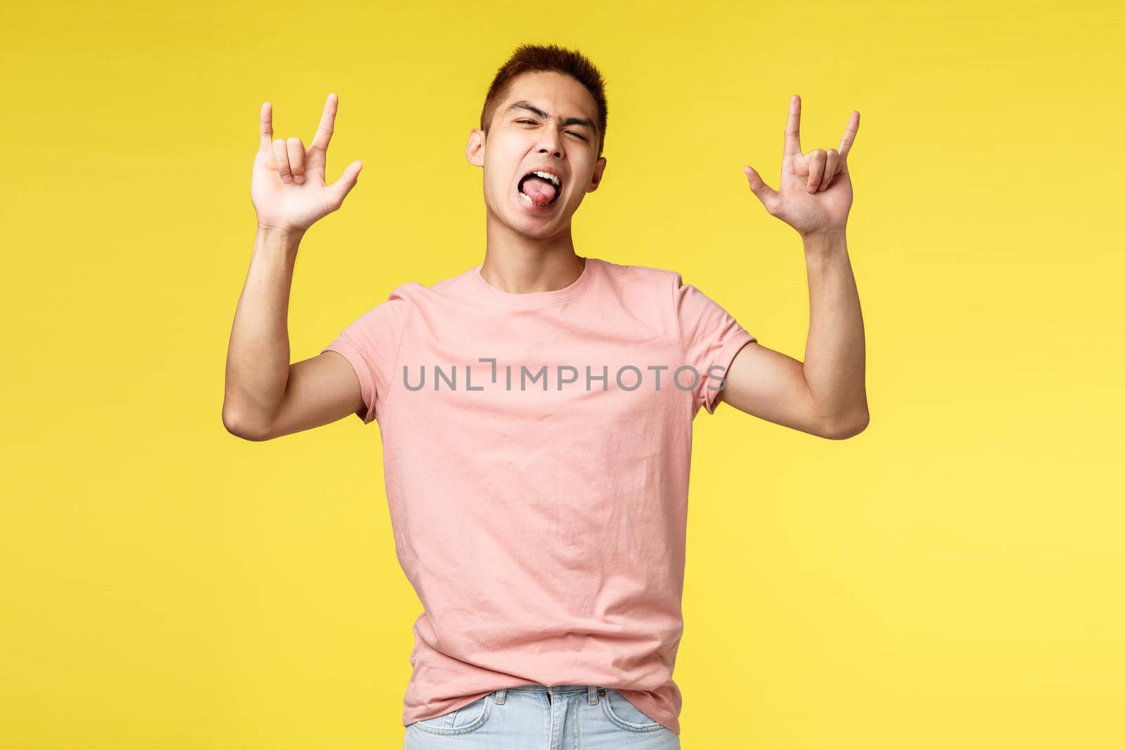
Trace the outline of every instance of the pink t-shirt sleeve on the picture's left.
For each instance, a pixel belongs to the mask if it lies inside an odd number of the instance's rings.
[[[363,407],[356,416],[368,424],[378,417],[379,409],[390,389],[393,369],[398,359],[403,332],[406,326],[408,300],[396,289],[387,298],[353,320],[340,335],[321,350],[343,355],[359,378]]]

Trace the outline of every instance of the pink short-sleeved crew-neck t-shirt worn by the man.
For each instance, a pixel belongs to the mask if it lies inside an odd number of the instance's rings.
[[[425,609],[404,725],[540,683],[616,688],[680,733],[692,419],[752,341],[675,271],[587,257],[552,291],[479,265],[404,283],[323,350],[378,421]]]

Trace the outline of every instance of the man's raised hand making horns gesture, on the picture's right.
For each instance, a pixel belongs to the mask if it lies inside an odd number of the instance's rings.
[[[757,170],[744,166],[750,190],[771,216],[796,229],[802,237],[818,233],[843,232],[852,208],[852,178],[847,154],[860,129],[860,112],[853,111],[839,150],[814,148],[801,153],[801,98],[789,101],[785,125],[785,154],[781,162],[781,189],[762,181]]]

